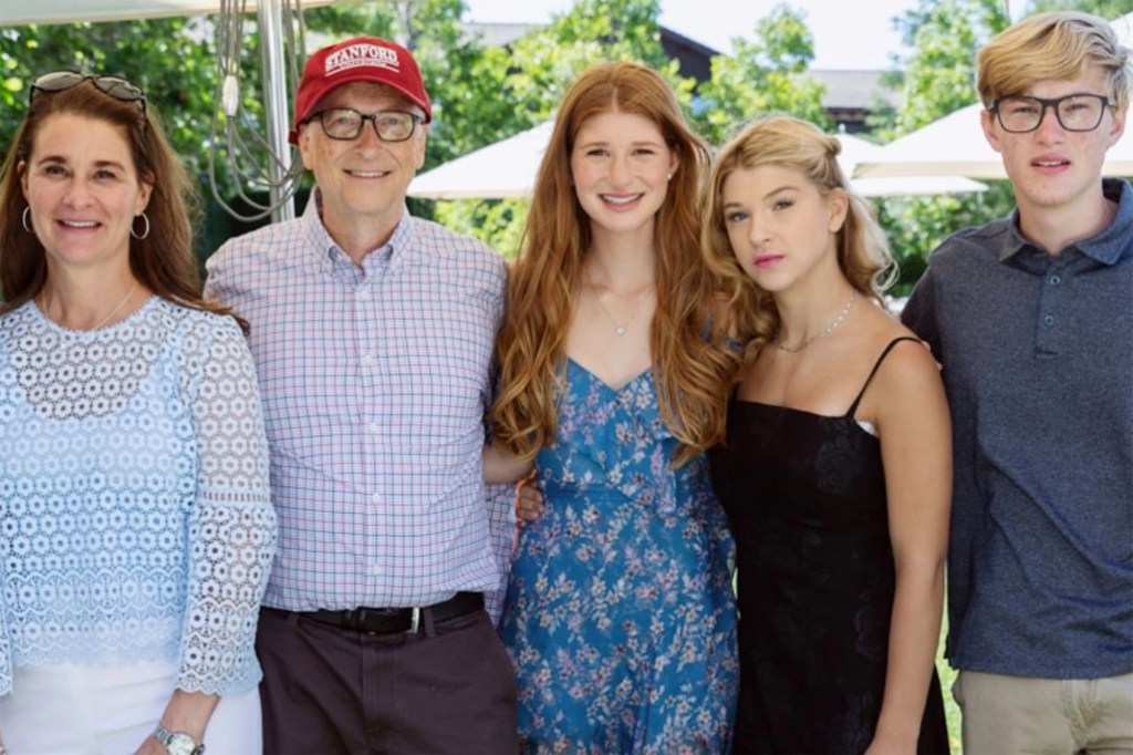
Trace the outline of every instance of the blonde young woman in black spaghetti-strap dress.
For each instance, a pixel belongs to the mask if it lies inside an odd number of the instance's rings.
[[[947,406],[929,351],[878,306],[891,261],[837,152],[770,117],[709,184],[707,265],[743,347],[712,455],[739,561],[735,749],[947,753]]]

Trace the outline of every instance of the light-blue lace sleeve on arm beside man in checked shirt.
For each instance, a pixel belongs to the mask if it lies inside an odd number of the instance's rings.
[[[225,695],[259,681],[254,642],[275,512],[252,355],[230,319],[206,324],[187,346],[199,354],[187,355],[198,467],[178,687]]]

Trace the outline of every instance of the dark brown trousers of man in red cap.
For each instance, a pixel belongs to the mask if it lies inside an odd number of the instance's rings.
[[[519,752],[516,675],[486,612],[368,635],[264,609],[264,753]]]

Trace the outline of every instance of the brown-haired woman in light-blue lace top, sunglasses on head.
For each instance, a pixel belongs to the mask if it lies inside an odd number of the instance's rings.
[[[259,749],[275,519],[252,358],[201,299],[145,95],[37,77],[0,183],[0,735]],[[2,749],[2,747],[0,747]]]

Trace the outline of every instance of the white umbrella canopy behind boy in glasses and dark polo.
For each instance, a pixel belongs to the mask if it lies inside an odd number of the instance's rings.
[[[1121,43],[1133,48],[1133,14],[1113,22]],[[966,176],[1006,179],[999,153],[980,128],[979,102],[906,134],[858,164],[855,178]],[[1126,130],[1130,130],[1128,128]],[[1133,137],[1126,133],[1109,149],[1106,176],[1133,176]]]

